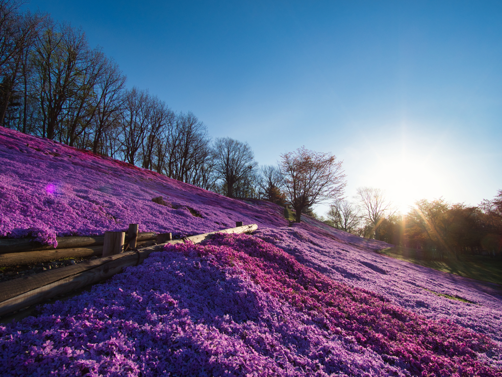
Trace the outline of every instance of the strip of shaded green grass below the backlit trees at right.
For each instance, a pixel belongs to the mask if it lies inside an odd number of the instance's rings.
[[[502,285],[502,260],[500,259],[493,259],[485,255],[462,255],[458,260],[423,260],[410,256],[414,255],[414,252],[415,249],[402,246],[379,251],[380,254],[434,268],[438,271]]]

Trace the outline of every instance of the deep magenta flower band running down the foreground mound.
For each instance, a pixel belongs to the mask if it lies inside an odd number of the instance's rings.
[[[445,371],[451,374],[458,368],[496,375],[476,360],[477,352],[494,346],[484,335],[447,320],[427,320],[390,304],[384,297],[341,285],[262,240],[221,234],[214,242],[239,251],[225,255],[227,263],[236,263],[238,258],[239,266],[264,291],[309,313],[320,326],[371,348],[384,359],[398,357],[415,375]]]

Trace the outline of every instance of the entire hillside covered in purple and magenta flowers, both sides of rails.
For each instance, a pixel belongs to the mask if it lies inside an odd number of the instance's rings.
[[[259,225],[166,246],[0,325],[0,375],[502,375],[499,286],[388,258],[373,252],[387,244],[308,218],[288,227],[270,203],[10,130],[0,129],[0,163],[0,236]]]

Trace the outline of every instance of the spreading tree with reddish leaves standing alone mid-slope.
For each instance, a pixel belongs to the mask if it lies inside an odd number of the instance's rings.
[[[346,185],[341,165],[336,156],[305,147],[281,155],[279,168],[297,223],[305,207],[341,198]]]

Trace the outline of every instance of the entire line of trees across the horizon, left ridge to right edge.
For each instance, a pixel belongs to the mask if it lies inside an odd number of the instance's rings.
[[[397,216],[382,191],[342,199],[342,161],[304,147],[259,166],[249,144],[212,139],[192,112],[175,113],[127,77],[85,33],[0,0],[0,125],[120,159],[233,198],[289,202],[301,214],[331,201],[325,222],[393,244],[441,253],[500,253],[500,195],[477,207],[420,201]],[[498,202],[497,202],[498,200]]]

